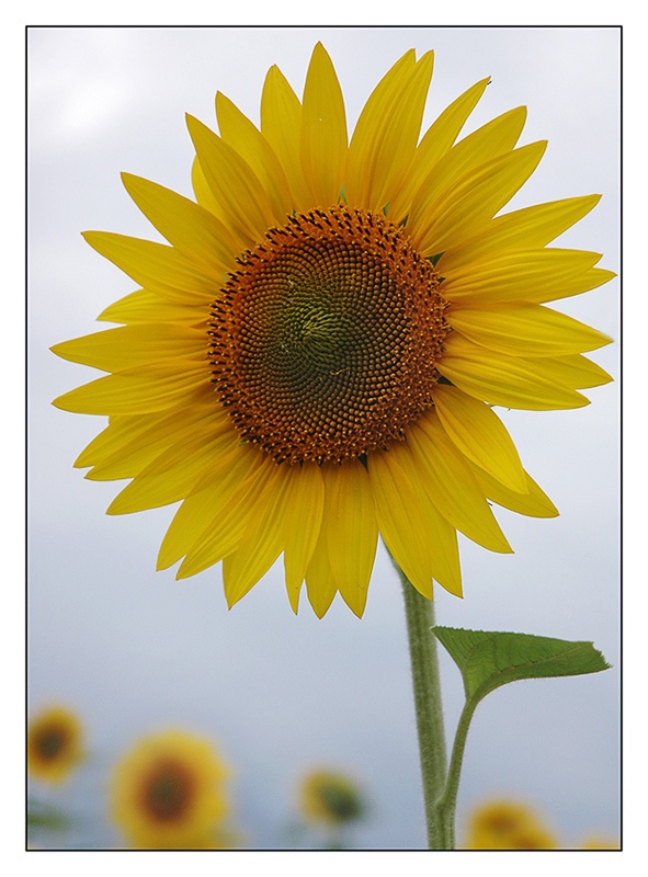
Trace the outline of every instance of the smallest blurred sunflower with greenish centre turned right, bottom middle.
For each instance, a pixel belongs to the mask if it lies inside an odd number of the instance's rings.
[[[342,825],[361,819],[365,805],[360,789],[345,774],[312,771],[299,788],[304,816],[315,822]]]

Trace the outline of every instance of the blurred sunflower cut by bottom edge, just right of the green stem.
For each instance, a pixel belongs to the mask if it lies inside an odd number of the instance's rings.
[[[533,810],[508,800],[494,800],[473,812],[464,848],[556,850],[556,839]]]

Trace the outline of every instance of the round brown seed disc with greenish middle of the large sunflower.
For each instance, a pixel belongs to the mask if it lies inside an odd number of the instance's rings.
[[[209,327],[216,390],[277,463],[388,447],[433,405],[450,327],[431,263],[383,216],[289,217],[239,260]]]

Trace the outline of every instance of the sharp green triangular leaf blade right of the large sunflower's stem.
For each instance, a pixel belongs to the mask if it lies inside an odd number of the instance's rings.
[[[468,701],[478,702],[521,679],[577,676],[610,668],[592,642],[454,627],[433,627],[432,633],[462,671]]]

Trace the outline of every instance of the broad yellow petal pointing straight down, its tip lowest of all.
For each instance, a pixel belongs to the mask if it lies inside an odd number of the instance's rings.
[[[338,590],[360,618],[374,567],[378,525],[368,476],[360,460],[322,468],[327,504],[329,563]]]

